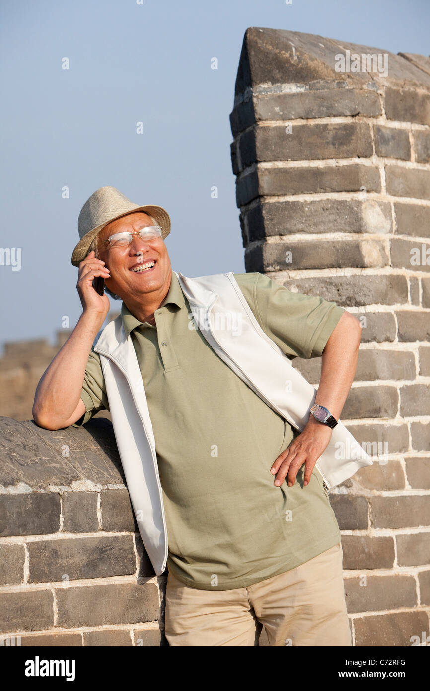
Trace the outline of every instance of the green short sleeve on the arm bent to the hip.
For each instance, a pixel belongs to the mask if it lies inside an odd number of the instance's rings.
[[[234,274],[267,336],[294,357],[320,357],[344,309],[322,297],[295,293],[260,273]]]

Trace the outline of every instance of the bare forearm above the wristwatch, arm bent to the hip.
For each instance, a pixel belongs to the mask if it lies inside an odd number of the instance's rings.
[[[351,316],[351,315],[350,315]],[[358,319],[345,319],[331,334],[322,352],[320,386],[315,403],[340,417],[357,368],[362,330]],[[313,422],[313,415],[310,416]],[[315,423],[320,425],[315,420]]]

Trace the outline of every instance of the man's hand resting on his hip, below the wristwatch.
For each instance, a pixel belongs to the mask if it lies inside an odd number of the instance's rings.
[[[292,487],[303,464],[303,484],[309,484],[315,463],[329,446],[331,433],[330,427],[311,416],[302,433],[293,439],[290,446],[282,451],[273,463],[271,473],[276,474],[274,484],[279,486],[288,475],[287,482]]]

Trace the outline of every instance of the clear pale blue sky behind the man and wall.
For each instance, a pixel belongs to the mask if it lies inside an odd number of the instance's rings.
[[[168,211],[176,271],[244,272],[228,115],[248,26],[430,53],[429,0],[9,0],[0,20],[0,246],[21,247],[21,270],[0,266],[0,343],[75,326],[77,217],[104,185]]]

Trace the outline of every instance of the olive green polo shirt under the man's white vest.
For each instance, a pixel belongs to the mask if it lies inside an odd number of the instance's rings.
[[[234,274],[268,337],[293,357],[319,357],[344,310],[259,273]],[[273,484],[275,458],[297,434],[194,328],[177,276],[155,323],[121,316],[144,382],[168,530],[168,569],[187,585],[224,590],[282,574],[340,542],[318,471]],[[88,357],[84,424],[108,398],[99,355]]]

